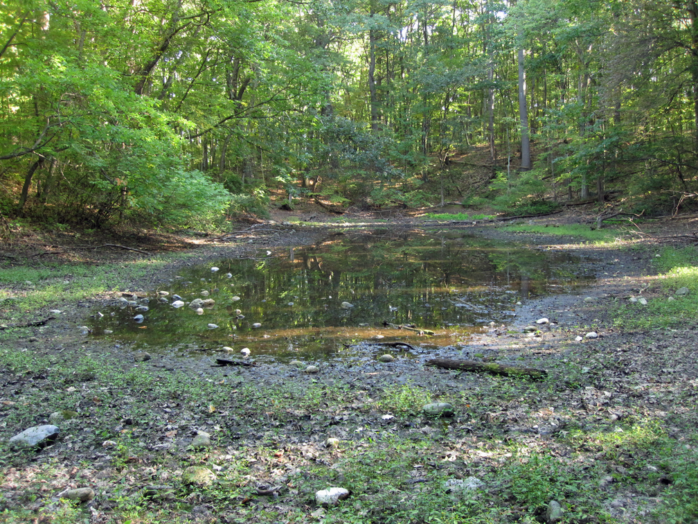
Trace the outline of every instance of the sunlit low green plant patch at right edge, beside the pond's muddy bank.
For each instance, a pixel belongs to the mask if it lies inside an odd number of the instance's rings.
[[[667,247],[654,261],[660,272],[658,293],[647,295],[647,305],[623,302],[613,311],[616,326],[623,328],[671,328],[687,326],[698,318],[698,249]],[[674,295],[681,288],[687,295]],[[669,300],[669,297],[674,300]]]

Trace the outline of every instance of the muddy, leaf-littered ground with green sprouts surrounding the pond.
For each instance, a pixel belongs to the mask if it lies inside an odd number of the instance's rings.
[[[578,208],[523,225],[590,218]],[[318,374],[166,354],[139,362],[127,344],[77,329],[121,293],[166,289],[184,265],[309,245],[333,220],[308,209],[272,219],[236,224],[225,242],[193,231],[8,236],[0,248],[0,274],[14,275],[0,279],[0,521],[698,522],[698,326],[689,308],[697,290],[671,303],[685,301],[690,314],[666,310],[676,289],[659,263],[686,252],[696,219],[647,221],[618,242],[467,226],[594,260],[595,282],[581,294],[525,300],[509,325],[459,337],[438,355],[547,370],[537,381],[426,367],[435,356],[428,345],[417,356],[394,351],[392,363],[333,364]],[[398,213],[334,220],[408,229],[423,221]],[[61,266],[59,279],[82,291],[53,286],[46,289],[56,298],[32,298]],[[107,289],[91,294],[85,282],[100,280]],[[646,309],[631,296],[646,298]],[[541,317],[550,323],[523,333]],[[597,337],[587,338],[592,331]],[[429,402],[449,402],[454,416],[426,416]],[[57,423],[54,444],[10,448],[10,437],[55,412],[75,418]],[[203,432],[210,443],[193,446]],[[330,486],[350,496],[320,507],[315,493]],[[72,488],[94,498],[66,500]]]

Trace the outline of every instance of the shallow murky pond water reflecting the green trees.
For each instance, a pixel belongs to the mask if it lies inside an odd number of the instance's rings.
[[[460,231],[337,233],[313,246],[192,266],[167,288],[147,293],[142,322],[133,319],[135,307],[113,307],[91,327],[95,335],[113,330],[109,337],[148,351],[231,347],[237,356],[247,347],[253,357],[281,361],[350,358],[357,356],[352,344],[366,340],[453,344],[492,322],[511,321],[518,300],[570,291],[590,279],[577,256]],[[170,293],[168,303],[158,302],[157,291]],[[174,294],[185,303],[212,298],[215,305],[202,314],[187,305],[176,309]]]

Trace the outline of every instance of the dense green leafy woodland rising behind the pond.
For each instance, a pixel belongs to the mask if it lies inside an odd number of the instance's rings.
[[[0,213],[177,225],[260,212],[273,190],[424,205],[439,185],[511,208],[616,184],[676,208],[697,185],[697,17],[695,1],[6,0]]]

